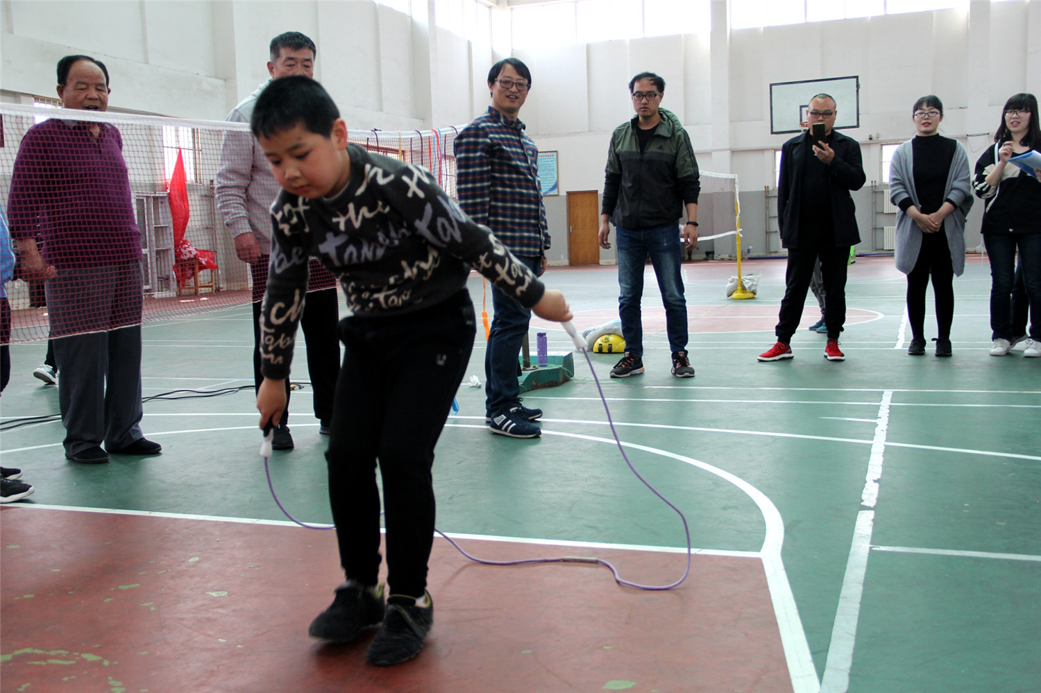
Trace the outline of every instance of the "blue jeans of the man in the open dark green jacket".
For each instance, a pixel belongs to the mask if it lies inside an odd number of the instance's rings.
[[[681,251],[679,224],[631,231],[614,227],[618,240],[618,317],[626,351],[643,356],[643,324],[640,300],[643,298],[643,270],[648,254],[658,278],[661,301],[665,305],[665,331],[668,348],[680,352],[687,348],[687,301],[683,298],[680,276]]]

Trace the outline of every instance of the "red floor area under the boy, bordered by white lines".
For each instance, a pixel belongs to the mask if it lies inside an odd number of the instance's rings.
[[[27,693],[791,691],[762,564],[695,557],[668,592],[589,564],[487,567],[442,539],[414,661],[306,635],[341,580],[332,532],[32,508],[0,511],[0,676]],[[468,541],[483,558],[599,556],[665,583],[675,554]]]

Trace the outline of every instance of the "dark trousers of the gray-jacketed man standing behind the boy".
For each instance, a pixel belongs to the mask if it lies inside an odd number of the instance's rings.
[[[268,256],[250,265],[253,273],[253,385],[260,389],[263,376],[260,375],[260,299],[268,285]],[[259,294],[257,287],[259,286]],[[320,420],[332,418],[332,401],[336,393],[336,378],[339,376],[339,340],[336,338],[336,323],[339,308],[336,305],[336,289],[327,288],[308,291],[304,312],[300,316],[300,329],[307,342],[307,371],[314,392],[314,417]],[[286,407],[282,412],[281,426],[289,420],[289,379],[285,379]]]

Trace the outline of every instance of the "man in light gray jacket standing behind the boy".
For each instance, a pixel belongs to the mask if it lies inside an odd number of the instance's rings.
[[[268,62],[271,78],[235,106],[227,120],[249,123],[257,97],[273,79],[289,75],[313,77],[315,55],[314,42],[299,31],[286,31],[272,38],[271,61]],[[248,130],[226,132],[221,146],[221,169],[217,173],[217,206],[234,238],[235,255],[249,263],[253,279],[253,379],[257,388],[263,381],[260,375],[259,318],[271,254],[270,208],[280,189],[253,134]],[[312,259],[307,303],[300,324],[307,340],[307,369],[314,391],[314,416],[320,420],[319,432],[324,434],[329,433],[336,378],[339,376],[338,319],[336,280]],[[285,389],[288,396],[288,379]],[[276,450],[293,447],[288,416],[286,409],[275,430],[272,447]]]

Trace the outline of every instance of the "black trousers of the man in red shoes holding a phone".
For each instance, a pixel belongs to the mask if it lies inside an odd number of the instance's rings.
[[[845,277],[849,261],[849,246],[829,245],[826,240],[803,240],[798,248],[788,249],[788,270],[785,274],[784,299],[775,332],[778,341],[791,343],[791,336],[803,319],[806,292],[813,278],[813,265],[820,258],[820,279],[824,285],[824,325],[828,338],[838,339],[845,323]]]

